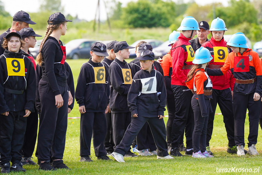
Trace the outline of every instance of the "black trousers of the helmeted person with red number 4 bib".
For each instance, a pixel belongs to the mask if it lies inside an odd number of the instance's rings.
[[[244,142],[244,124],[248,109],[249,117],[249,135],[248,147],[252,144],[257,144],[258,124],[260,116],[260,100],[253,100],[254,93],[247,95],[234,93],[233,95],[233,110],[235,118],[235,142],[236,145],[245,145]]]

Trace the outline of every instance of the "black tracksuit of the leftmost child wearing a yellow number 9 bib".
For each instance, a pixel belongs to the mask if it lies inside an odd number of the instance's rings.
[[[0,56],[0,114],[9,111],[9,115],[0,115],[1,165],[9,161],[13,164],[19,163],[22,159],[19,151],[23,145],[27,120],[27,117],[23,116],[26,109],[34,112],[35,93],[30,92],[36,91],[36,76],[32,62],[22,55],[21,50],[18,53],[5,50],[4,55]],[[6,58],[22,58],[25,76],[9,76]],[[17,66],[13,66],[14,72],[22,67],[21,63],[20,66],[18,62],[16,64]],[[21,71],[23,73],[23,70]]]

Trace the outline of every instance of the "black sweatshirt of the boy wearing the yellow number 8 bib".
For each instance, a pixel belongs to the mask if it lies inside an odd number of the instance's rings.
[[[117,58],[109,66],[109,76],[112,85],[110,87],[109,108],[112,113],[129,112],[127,95],[131,84],[123,84],[124,78],[121,68],[131,69],[131,66],[126,61],[120,61]],[[132,69],[131,76],[133,79]]]

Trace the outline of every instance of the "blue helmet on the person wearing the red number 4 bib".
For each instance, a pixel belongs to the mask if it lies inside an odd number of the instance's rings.
[[[244,33],[241,32],[233,34],[226,44],[233,47],[248,48],[247,38]]]

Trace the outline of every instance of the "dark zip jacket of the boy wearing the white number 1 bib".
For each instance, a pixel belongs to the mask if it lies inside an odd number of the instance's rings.
[[[157,92],[143,93],[142,82],[140,79],[154,76],[156,76]],[[143,117],[157,117],[158,115],[164,115],[165,105],[166,89],[161,73],[156,71],[153,66],[151,72],[143,69],[138,71],[134,75],[134,79],[128,93],[128,107],[130,108],[131,114],[138,114]]]

